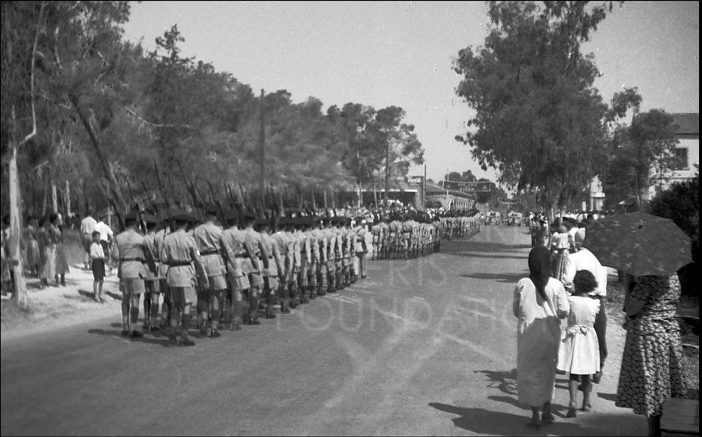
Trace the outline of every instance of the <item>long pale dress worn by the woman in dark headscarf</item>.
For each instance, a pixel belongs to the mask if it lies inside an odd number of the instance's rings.
[[[520,279],[514,288],[514,314],[519,317],[517,392],[519,402],[529,407],[553,399],[560,343],[557,312],[568,312],[568,296],[560,281],[548,279],[545,291],[550,303],[541,299],[529,278]]]

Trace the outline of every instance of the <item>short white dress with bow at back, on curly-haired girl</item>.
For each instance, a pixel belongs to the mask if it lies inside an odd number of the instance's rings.
[[[599,344],[594,331],[599,299],[570,296],[568,301],[568,329],[558,350],[558,370],[573,375],[592,375],[599,372]]]

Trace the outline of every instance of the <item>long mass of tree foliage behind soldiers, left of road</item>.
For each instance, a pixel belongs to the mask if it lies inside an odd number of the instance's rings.
[[[368,186],[402,179],[410,164],[423,162],[401,107],[346,103],[325,110],[314,97],[294,103],[285,90],[262,100],[233,74],[184,57],[177,25],[156,38],[151,52],[123,40],[129,15],[126,1],[3,2],[4,162],[11,141],[31,131],[33,110],[38,122],[38,134],[18,156],[28,212],[43,214],[47,187],[61,190],[67,181],[74,209],[105,207],[105,197],[125,209],[130,189],[153,190],[159,182],[173,197],[187,196],[190,181],[201,193],[214,187],[221,196],[228,183],[253,191],[262,113],[265,181],[275,190]]]

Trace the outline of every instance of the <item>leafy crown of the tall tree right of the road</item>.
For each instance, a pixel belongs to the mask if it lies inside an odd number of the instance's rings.
[[[461,49],[456,94],[476,110],[469,144],[500,182],[535,190],[546,209],[568,204],[604,163],[607,107],[594,88],[599,75],[582,42],[612,4],[587,1],[492,1],[483,47]]]

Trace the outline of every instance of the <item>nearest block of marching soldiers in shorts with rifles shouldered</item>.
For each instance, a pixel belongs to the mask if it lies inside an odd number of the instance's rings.
[[[202,219],[187,211],[160,218],[132,211],[124,217],[125,231],[113,247],[123,335],[159,330],[172,344],[191,346],[193,312],[200,337],[216,338],[223,323],[236,331],[260,325],[260,313],[275,318],[279,300],[280,313],[289,313],[366,277],[369,233],[363,217],[257,219],[216,204],[201,210]]]

